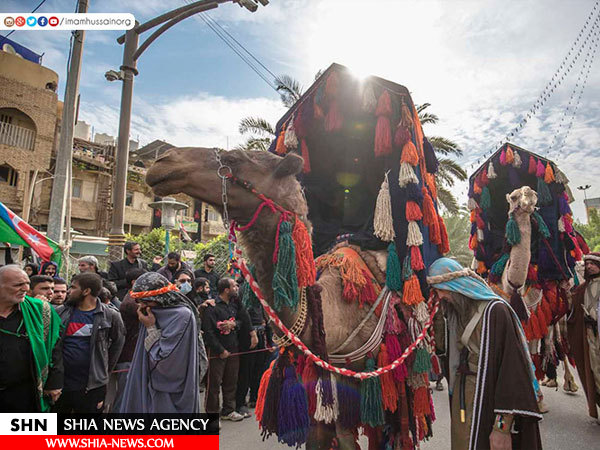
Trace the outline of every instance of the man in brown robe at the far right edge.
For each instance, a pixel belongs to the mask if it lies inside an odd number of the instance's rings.
[[[585,282],[573,293],[567,320],[569,346],[588,403],[588,414],[598,419],[600,406],[600,338],[598,337],[600,299],[600,253],[583,257]],[[600,423],[600,421],[599,421]]]

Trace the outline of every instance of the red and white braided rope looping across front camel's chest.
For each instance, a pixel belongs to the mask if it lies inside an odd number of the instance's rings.
[[[429,319],[423,326],[423,330],[421,331],[421,333],[419,333],[416,340],[406,348],[404,353],[402,353],[402,355],[398,359],[396,359],[395,361],[393,361],[392,363],[388,364],[385,367],[380,367],[379,369],[371,371],[371,372],[355,372],[350,369],[332,366],[331,364],[329,364],[326,361],[323,361],[321,358],[319,358],[317,355],[315,355],[313,352],[311,352],[310,349],[298,338],[298,336],[293,334],[283,324],[281,319],[279,319],[279,316],[277,315],[277,313],[275,313],[275,311],[273,311],[271,306],[269,306],[269,304],[265,300],[265,298],[260,290],[260,287],[258,286],[258,283],[256,282],[256,280],[250,273],[248,266],[246,266],[246,262],[243,259],[241,259],[240,261],[236,262],[235,265],[237,266],[238,269],[240,269],[240,271],[242,272],[242,275],[244,276],[244,278],[250,285],[250,288],[254,291],[254,294],[256,295],[256,297],[260,301],[261,305],[265,309],[265,312],[271,318],[271,320],[275,323],[277,328],[279,328],[288,337],[288,339],[290,339],[292,341],[292,343],[300,351],[302,351],[302,353],[304,353],[304,355],[308,359],[310,359],[317,366],[319,366],[322,369],[325,369],[329,372],[333,372],[337,375],[343,375],[346,377],[358,378],[359,380],[364,380],[364,379],[373,378],[373,377],[379,377],[385,373],[388,373],[388,372],[394,370],[398,366],[400,366],[406,360],[406,358],[408,358],[412,354],[412,352],[415,351],[417,346],[425,339],[427,331],[429,330],[429,327],[433,323],[433,317],[435,316],[435,313],[437,312],[438,306],[439,306],[438,300],[433,299],[432,304],[431,304],[431,314],[429,316]]]

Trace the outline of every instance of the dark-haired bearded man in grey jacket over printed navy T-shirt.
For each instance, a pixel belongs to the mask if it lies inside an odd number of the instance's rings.
[[[99,275],[76,275],[65,304],[56,309],[64,328],[65,367],[56,412],[102,411],[108,377],[125,341],[125,327],[119,311],[98,299],[101,288]]]

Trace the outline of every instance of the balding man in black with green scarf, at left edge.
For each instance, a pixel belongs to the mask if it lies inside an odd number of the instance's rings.
[[[60,318],[28,290],[19,266],[0,267],[0,412],[47,412],[62,390]]]

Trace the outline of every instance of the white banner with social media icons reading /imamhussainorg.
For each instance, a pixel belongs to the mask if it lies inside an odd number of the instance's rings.
[[[0,30],[130,30],[135,17],[129,13],[2,13]]]

